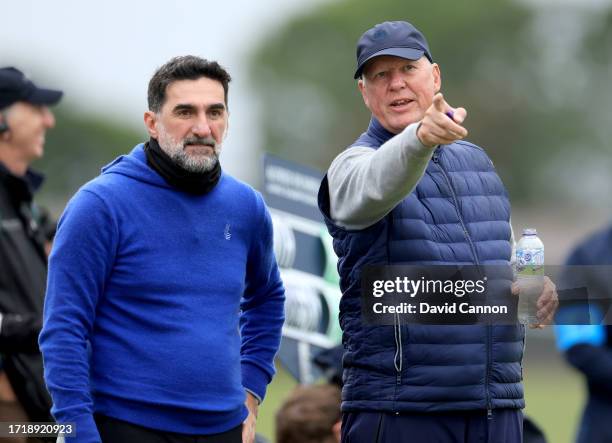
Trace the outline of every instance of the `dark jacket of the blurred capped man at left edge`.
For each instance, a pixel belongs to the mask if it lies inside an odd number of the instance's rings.
[[[30,420],[52,421],[37,338],[47,277],[44,234],[32,192],[41,182],[12,175],[0,164],[0,354]]]

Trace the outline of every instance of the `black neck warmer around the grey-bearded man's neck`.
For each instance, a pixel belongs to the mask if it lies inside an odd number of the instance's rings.
[[[195,195],[210,192],[221,178],[221,165],[219,161],[215,167],[206,172],[191,172],[177,165],[166,154],[156,139],[151,138],[145,144],[147,164],[170,185],[181,191]]]

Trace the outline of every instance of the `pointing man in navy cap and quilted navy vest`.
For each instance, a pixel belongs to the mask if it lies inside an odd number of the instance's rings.
[[[343,293],[342,441],[521,442],[523,326],[361,318],[365,266],[509,264],[513,240],[507,192],[485,152],[463,141],[467,112],[440,93],[423,34],[407,22],[369,29],[355,79],[372,118],[319,191]],[[546,280],[542,324],[556,304]]]

